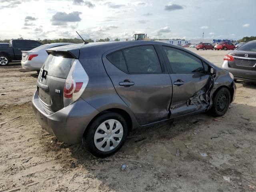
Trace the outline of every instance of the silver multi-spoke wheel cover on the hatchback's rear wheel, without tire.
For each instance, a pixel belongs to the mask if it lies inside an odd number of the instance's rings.
[[[121,142],[123,134],[123,126],[118,120],[106,120],[96,129],[94,144],[100,151],[111,151]]]

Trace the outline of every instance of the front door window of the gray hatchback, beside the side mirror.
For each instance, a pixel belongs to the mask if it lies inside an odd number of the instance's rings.
[[[163,46],[174,73],[204,73],[202,61],[182,50]]]

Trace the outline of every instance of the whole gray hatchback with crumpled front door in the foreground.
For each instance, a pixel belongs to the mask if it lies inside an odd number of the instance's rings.
[[[33,109],[60,141],[109,156],[137,127],[210,111],[234,100],[232,74],[179,46],[154,41],[75,44],[47,50]]]

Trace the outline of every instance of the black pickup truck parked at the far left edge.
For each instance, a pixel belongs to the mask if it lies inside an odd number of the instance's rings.
[[[0,47],[0,66],[8,65],[12,60],[21,60],[21,51],[34,49],[42,43],[34,40],[10,40],[8,47]]]

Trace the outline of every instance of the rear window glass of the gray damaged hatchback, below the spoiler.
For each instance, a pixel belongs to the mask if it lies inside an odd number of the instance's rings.
[[[66,79],[74,61],[68,53],[51,53],[44,62],[43,69],[49,76]]]

